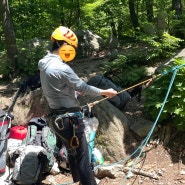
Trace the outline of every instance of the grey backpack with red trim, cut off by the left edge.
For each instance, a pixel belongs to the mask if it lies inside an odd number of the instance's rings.
[[[7,140],[12,117],[4,110],[0,110],[0,174],[6,171]]]

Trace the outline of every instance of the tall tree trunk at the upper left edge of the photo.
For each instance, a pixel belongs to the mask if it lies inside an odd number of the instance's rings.
[[[5,35],[5,43],[7,49],[7,56],[11,61],[11,65],[13,66],[13,75],[17,69],[17,48],[16,48],[16,39],[14,28],[12,24],[12,19],[10,16],[10,10],[8,5],[8,0],[0,1],[0,16],[2,19],[2,26]]]

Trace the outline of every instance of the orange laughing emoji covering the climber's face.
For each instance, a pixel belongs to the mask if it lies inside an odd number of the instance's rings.
[[[63,45],[59,49],[59,56],[64,62],[70,62],[75,58],[76,50],[71,45]]]

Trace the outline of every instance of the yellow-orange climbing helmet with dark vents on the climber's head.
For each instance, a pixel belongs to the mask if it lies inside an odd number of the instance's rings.
[[[55,41],[65,41],[67,42],[69,45],[72,45],[74,47],[77,48],[78,46],[78,38],[76,37],[75,33],[70,30],[67,27],[64,26],[59,26],[58,28],[56,28],[52,35],[51,35],[51,40]]]

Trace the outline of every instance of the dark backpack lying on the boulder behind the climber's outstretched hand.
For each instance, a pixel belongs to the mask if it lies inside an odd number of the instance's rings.
[[[120,86],[116,85],[110,78],[104,75],[97,75],[89,79],[88,85],[92,85],[101,89],[114,89],[116,91],[123,90]],[[127,91],[124,91],[117,96],[109,98],[108,101],[112,103],[115,107],[123,110],[125,105],[131,100],[131,96]]]

